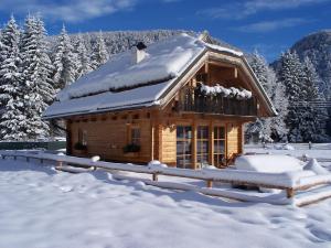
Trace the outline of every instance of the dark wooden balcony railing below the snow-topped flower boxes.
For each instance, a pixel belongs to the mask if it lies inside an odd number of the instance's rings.
[[[182,89],[178,103],[179,111],[205,112],[235,116],[256,116],[257,103],[254,97],[249,99],[236,99],[216,96],[204,96],[194,88]]]

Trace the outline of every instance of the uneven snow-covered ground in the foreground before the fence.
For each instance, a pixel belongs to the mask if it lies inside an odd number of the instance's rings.
[[[331,200],[235,203],[1,160],[0,247],[331,247]]]

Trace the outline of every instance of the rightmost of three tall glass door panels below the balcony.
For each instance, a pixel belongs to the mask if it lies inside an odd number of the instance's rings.
[[[214,153],[213,162],[215,166],[225,165],[225,127],[214,127]]]

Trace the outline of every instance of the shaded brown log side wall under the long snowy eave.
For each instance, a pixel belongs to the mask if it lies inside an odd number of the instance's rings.
[[[147,163],[151,160],[151,121],[149,118],[135,119],[136,114],[95,115],[71,120],[72,154],[77,157],[99,155],[102,160]],[[124,147],[131,142],[131,129],[140,130],[140,151],[124,152]],[[74,147],[79,141],[79,130],[85,132],[87,151]]]

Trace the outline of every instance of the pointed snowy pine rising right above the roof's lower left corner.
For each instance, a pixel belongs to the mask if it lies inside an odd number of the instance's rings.
[[[74,47],[71,39],[63,25],[61,34],[57,37],[55,53],[53,57],[54,65],[54,85],[57,90],[72,84],[77,75],[77,57],[74,54]]]

